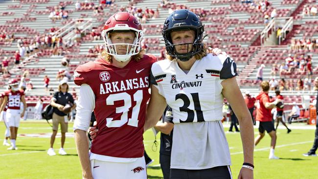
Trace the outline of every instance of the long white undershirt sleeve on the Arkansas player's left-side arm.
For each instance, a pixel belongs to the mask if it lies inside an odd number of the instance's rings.
[[[90,127],[91,112],[95,108],[95,95],[87,84],[81,85],[78,101],[76,104],[76,115],[73,130],[87,131]]]

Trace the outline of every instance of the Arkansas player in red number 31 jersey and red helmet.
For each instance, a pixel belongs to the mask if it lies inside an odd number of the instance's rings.
[[[74,132],[83,178],[146,179],[142,134],[150,68],[157,58],[141,50],[141,24],[127,12],[111,16],[102,36],[102,58],[74,72],[81,86]],[[98,136],[89,155],[86,132],[93,110]]]

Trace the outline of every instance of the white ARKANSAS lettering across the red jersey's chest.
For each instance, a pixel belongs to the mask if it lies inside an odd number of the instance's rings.
[[[144,78],[134,78],[122,81],[114,81],[109,83],[100,84],[100,94],[107,94],[110,92],[132,90],[138,88],[148,88],[149,87],[149,77]]]

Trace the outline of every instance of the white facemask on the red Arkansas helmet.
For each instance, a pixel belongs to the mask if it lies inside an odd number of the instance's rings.
[[[118,31],[118,32],[134,32],[135,39],[134,39],[133,44],[126,44],[126,43],[113,44],[112,40],[110,38],[110,34],[113,31],[114,32],[116,32],[116,31]],[[118,62],[126,62],[132,56],[138,54],[139,51],[141,50],[140,42],[141,42],[142,37],[143,37],[143,32],[142,32],[142,30],[137,30],[135,28],[128,27],[128,25],[127,25],[127,27],[125,27],[125,28],[124,27],[120,27],[120,28],[115,27],[115,28],[103,30],[102,37],[103,37],[104,42],[105,42],[106,53],[114,56],[114,59],[117,60]],[[117,45],[126,45],[126,53],[125,54],[118,54],[118,52],[116,50],[116,47],[118,47]]]

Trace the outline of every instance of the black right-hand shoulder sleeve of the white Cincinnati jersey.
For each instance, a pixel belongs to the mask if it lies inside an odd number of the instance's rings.
[[[220,79],[226,80],[234,76],[237,76],[236,64],[233,59],[227,56],[220,71]]]

